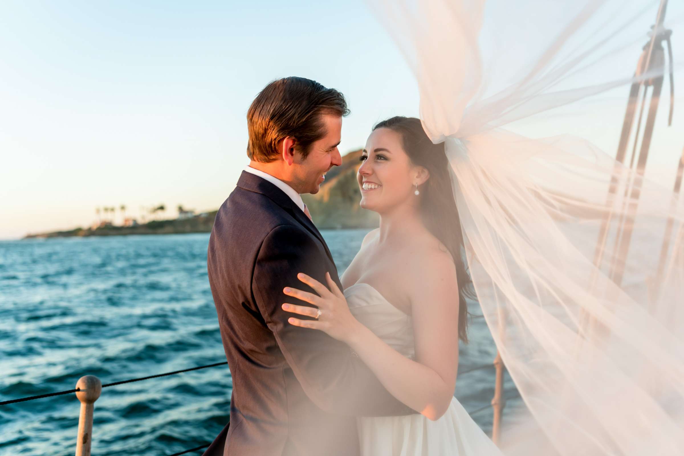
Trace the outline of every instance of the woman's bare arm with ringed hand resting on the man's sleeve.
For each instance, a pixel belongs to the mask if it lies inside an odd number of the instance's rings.
[[[334,282],[326,287],[302,276],[300,280],[321,296],[291,289],[285,294],[321,309],[319,321],[291,318],[304,328],[323,330],[349,345],[394,397],[413,410],[436,420],[451,402],[458,367],[458,284],[451,259],[440,255],[430,264],[412,262],[410,283],[406,283],[412,307],[416,360],[406,358],[350,313],[346,300]],[[315,317],[311,307],[285,304],[283,308]]]

